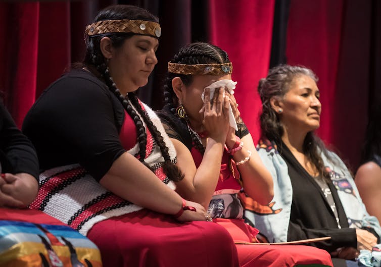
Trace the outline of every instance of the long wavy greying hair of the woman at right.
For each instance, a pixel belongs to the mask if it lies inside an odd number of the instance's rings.
[[[267,77],[259,81],[258,93],[262,101],[262,114],[260,115],[261,130],[262,135],[269,140],[280,143],[284,133],[279,115],[272,108],[270,99],[272,97],[282,98],[289,91],[294,79],[301,75],[306,75],[315,82],[318,81],[317,76],[312,70],[303,66],[290,65],[279,65],[270,69]],[[307,156],[307,159],[316,167],[320,177],[329,179],[319,151],[322,151],[331,159],[326,152],[323,142],[311,131],[304,139],[303,152]]]

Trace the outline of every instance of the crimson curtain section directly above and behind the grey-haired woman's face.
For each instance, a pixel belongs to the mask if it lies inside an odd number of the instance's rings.
[[[304,65],[319,77],[322,114],[318,135],[331,143],[332,111],[340,56],[343,0],[291,0],[287,31],[288,64]]]

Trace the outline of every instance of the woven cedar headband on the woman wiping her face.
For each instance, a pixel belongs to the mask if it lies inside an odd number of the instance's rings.
[[[168,62],[168,72],[184,75],[225,75],[231,74],[231,62],[223,64],[177,64]]]

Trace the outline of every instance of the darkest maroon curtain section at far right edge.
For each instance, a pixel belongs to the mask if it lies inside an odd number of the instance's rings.
[[[381,7],[381,2],[373,1],[373,4],[375,3]],[[379,19],[381,13],[379,9],[378,16],[376,15],[376,11],[372,10],[374,6],[372,7],[371,1],[347,0],[345,6],[336,100],[331,109],[331,122],[335,127],[335,131],[332,132],[332,144],[340,150],[355,172],[360,164],[361,148],[369,118],[369,104],[374,104],[374,98],[381,96],[381,84],[378,88],[373,87],[374,77],[379,79],[381,74],[374,68],[375,61],[378,60],[379,64],[381,59],[376,58],[381,46],[380,43],[375,45],[373,38],[381,34],[380,28],[377,32],[373,28],[375,24],[372,25],[372,19]],[[373,91],[376,92],[374,96],[371,93]]]

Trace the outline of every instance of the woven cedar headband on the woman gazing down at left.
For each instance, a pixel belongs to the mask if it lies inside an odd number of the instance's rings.
[[[89,36],[105,33],[135,33],[160,37],[159,23],[147,20],[102,20],[87,25],[85,33]]]

